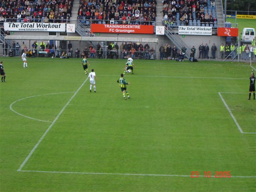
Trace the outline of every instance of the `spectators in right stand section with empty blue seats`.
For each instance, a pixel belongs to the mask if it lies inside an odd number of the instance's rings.
[[[163,23],[170,26],[214,26],[214,0],[164,0]]]

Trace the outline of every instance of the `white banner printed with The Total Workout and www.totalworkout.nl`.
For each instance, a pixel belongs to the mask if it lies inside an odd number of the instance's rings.
[[[4,30],[9,31],[45,31],[65,32],[65,23],[8,23],[4,22]]]

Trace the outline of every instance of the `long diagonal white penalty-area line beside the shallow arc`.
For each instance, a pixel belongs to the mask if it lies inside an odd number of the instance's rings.
[[[70,104],[70,102],[72,101],[72,99],[76,96],[76,94],[78,93],[78,91],[82,88],[82,86],[84,86],[84,84],[86,83],[86,81],[88,80],[88,77],[86,78],[86,80],[84,80],[84,82],[82,83],[82,85],[76,90],[76,92],[74,92],[73,96],[70,98],[70,100],[68,100],[68,102],[66,103],[66,105],[62,108],[62,110],[59,112],[59,114],[56,116],[56,118],[53,120],[53,122],[50,124],[50,126],[48,127],[48,129],[44,132],[44,134],[42,135],[42,137],[40,138],[40,140],[36,143],[36,145],[34,146],[34,148],[31,150],[31,152],[28,154],[28,156],[26,157],[26,159],[24,160],[24,162],[22,162],[22,164],[20,165],[20,167],[18,168],[18,171],[21,171],[21,169],[23,168],[23,166],[26,164],[26,162],[29,160],[29,158],[32,156],[32,154],[34,153],[34,151],[36,150],[36,148],[38,147],[38,145],[41,143],[41,141],[44,139],[44,137],[46,136],[46,134],[50,131],[50,129],[52,128],[52,126],[55,124],[55,122],[58,120],[58,118],[60,117],[60,115],[62,114],[62,112],[66,109],[66,107],[68,106],[68,104]]]

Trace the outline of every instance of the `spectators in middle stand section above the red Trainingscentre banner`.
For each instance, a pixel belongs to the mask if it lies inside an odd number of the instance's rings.
[[[156,21],[156,0],[80,0],[78,19],[151,25]]]

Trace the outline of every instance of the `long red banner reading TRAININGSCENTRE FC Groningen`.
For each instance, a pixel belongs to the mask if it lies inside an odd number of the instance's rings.
[[[153,34],[154,26],[153,25],[127,25],[127,24],[91,24],[91,32]]]

